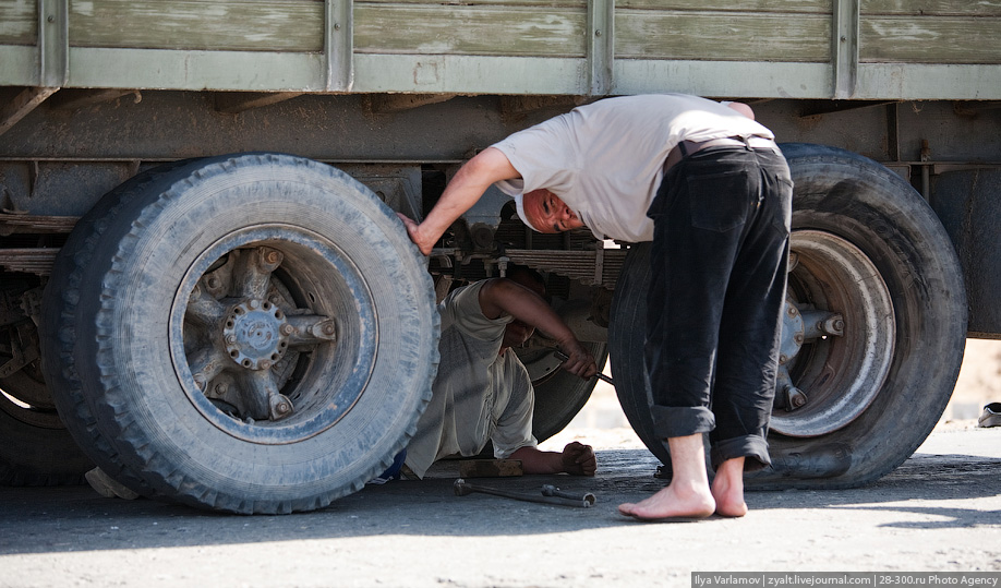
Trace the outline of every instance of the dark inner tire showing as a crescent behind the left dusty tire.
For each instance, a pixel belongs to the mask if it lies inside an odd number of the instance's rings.
[[[76,223],[59,250],[41,304],[43,371],[70,435],[94,465],[144,496],[150,495],[153,489],[121,463],[118,449],[98,429],[94,408],[81,386],[77,356],[83,352],[82,347],[89,347],[93,341],[77,338],[77,333],[81,323],[93,320],[93,316],[83,315],[79,302],[82,289],[91,291],[100,288],[99,276],[92,272],[91,262],[95,248],[123,204],[148,190],[165,173],[189,163],[181,160],[157,166],[105,194]]]

